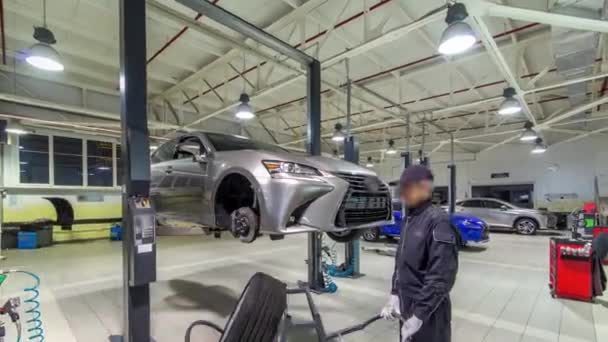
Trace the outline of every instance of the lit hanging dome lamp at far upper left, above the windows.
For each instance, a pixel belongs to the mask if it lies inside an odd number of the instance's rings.
[[[42,1],[42,26],[34,27],[34,39],[38,41],[28,51],[25,61],[32,66],[47,71],[63,71],[63,63],[57,50],[51,45],[57,43],[55,35],[46,27],[46,0]]]

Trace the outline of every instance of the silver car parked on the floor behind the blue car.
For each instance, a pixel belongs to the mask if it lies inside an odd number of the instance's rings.
[[[456,212],[479,217],[493,228],[532,235],[538,229],[555,229],[557,217],[547,211],[520,208],[495,198],[469,198],[456,202]]]

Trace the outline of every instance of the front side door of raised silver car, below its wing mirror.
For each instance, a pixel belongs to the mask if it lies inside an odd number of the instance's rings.
[[[174,178],[170,211],[180,221],[201,223],[205,178],[208,174],[207,150],[198,136],[182,137],[175,148],[171,175]]]

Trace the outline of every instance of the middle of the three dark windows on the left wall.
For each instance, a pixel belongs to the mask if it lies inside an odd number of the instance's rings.
[[[82,140],[53,137],[55,185],[82,185]]]

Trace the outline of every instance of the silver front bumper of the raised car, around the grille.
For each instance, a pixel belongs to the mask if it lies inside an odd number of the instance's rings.
[[[333,175],[264,178],[259,182],[260,231],[268,234],[340,232],[378,227],[392,222],[390,196],[381,220],[337,226],[350,184]],[[376,203],[376,205],[378,205]]]

